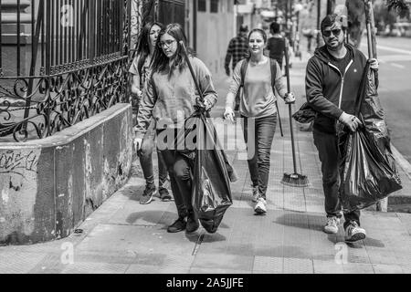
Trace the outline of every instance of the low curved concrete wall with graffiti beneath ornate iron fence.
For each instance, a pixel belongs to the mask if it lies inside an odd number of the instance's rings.
[[[52,137],[0,144],[0,245],[68,236],[129,178],[132,108],[121,103]]]

